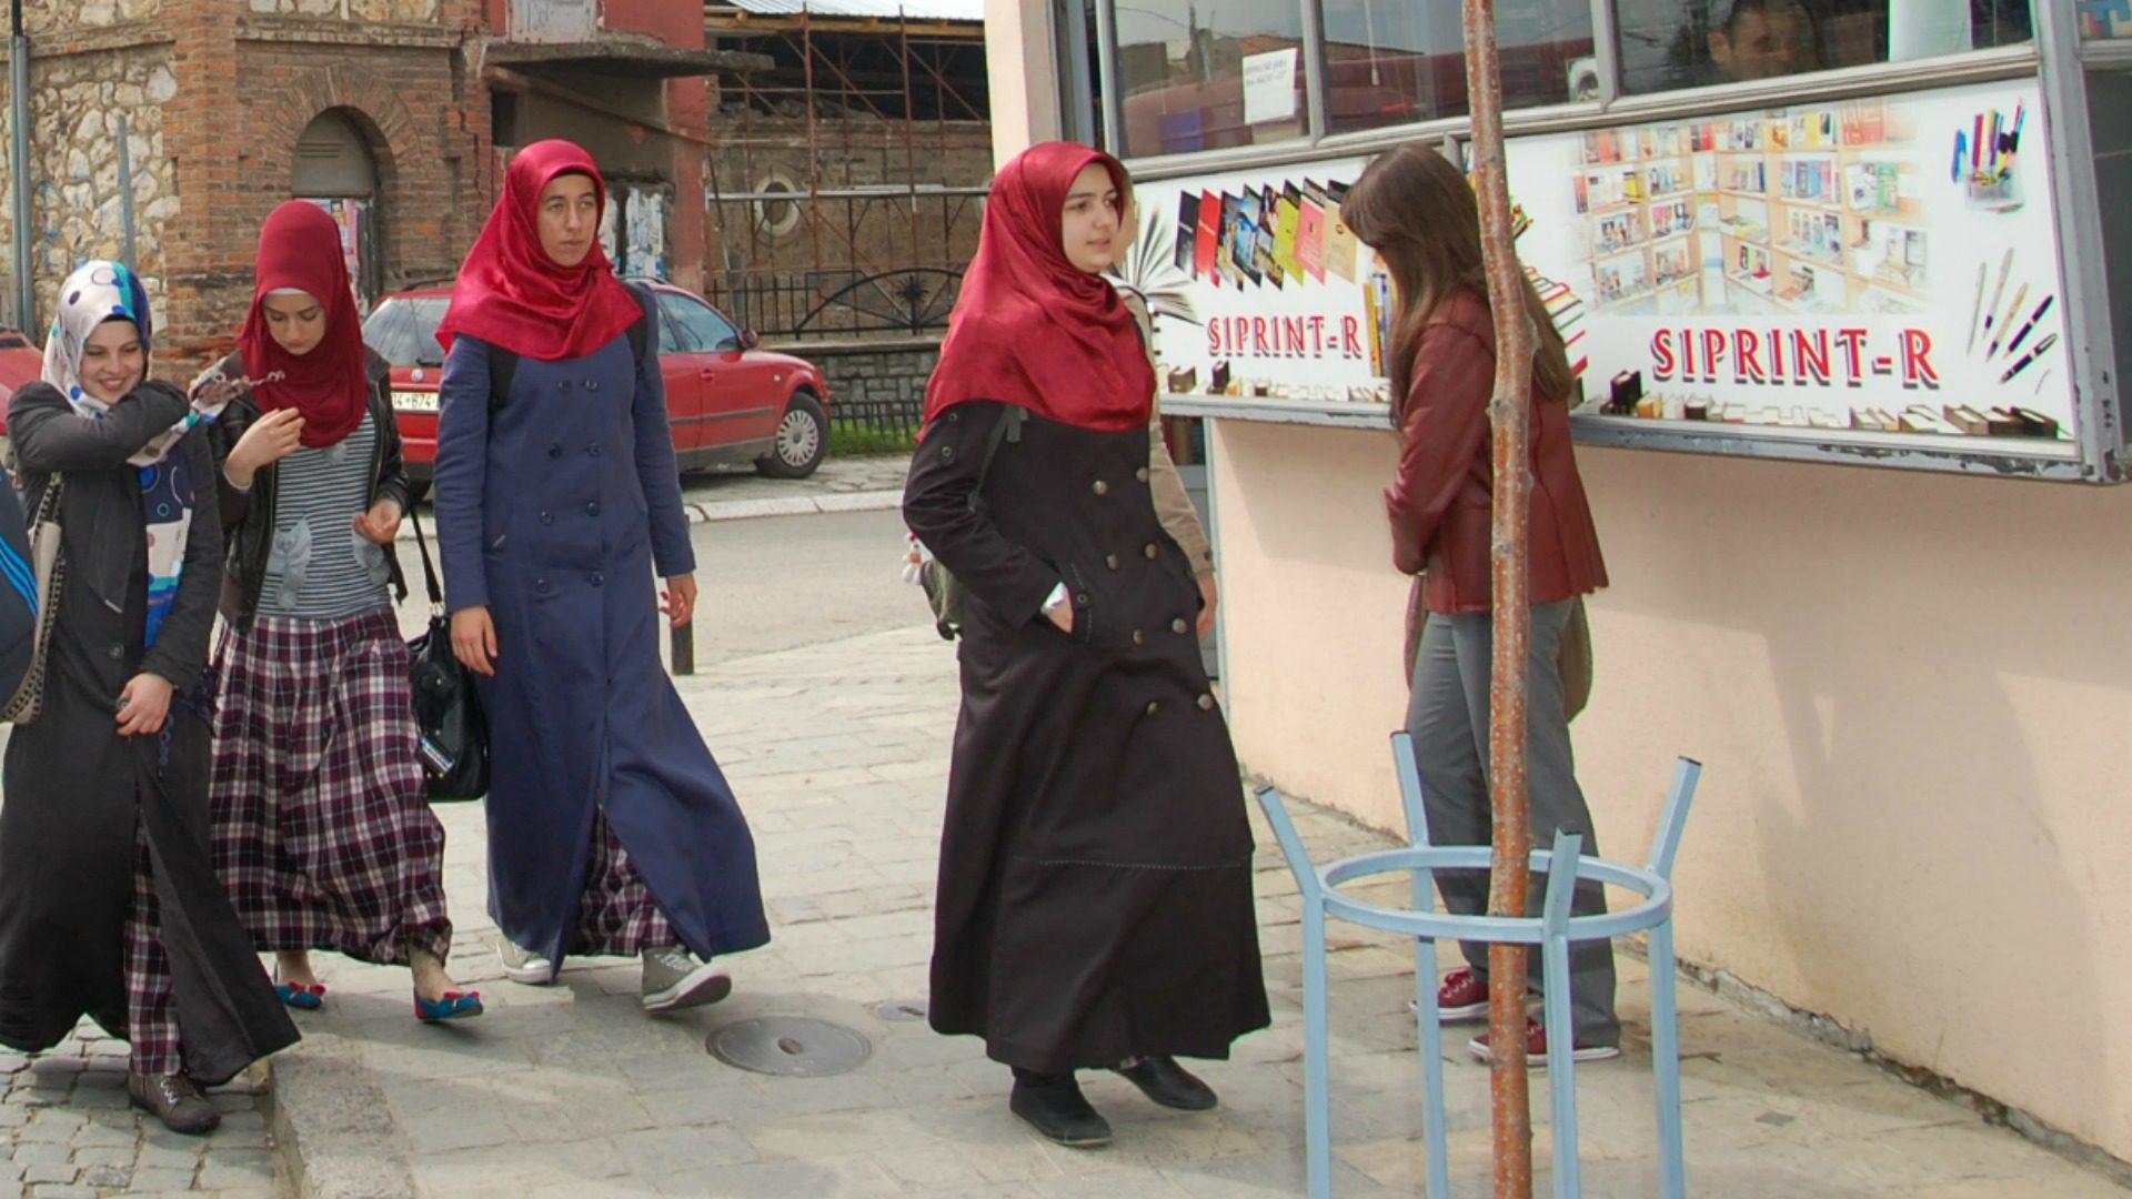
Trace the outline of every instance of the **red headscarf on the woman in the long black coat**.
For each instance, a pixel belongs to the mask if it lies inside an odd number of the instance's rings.
[[[1066,260],[1066,192],[1092,162],[1124,198],[1126,169],[1072,141],[1032,145],[994,175],[976,258],[925,384],[927,422],[966,399],[996,399],[1083,429],[1147,425],[1156,371],[1132,314],[1109,279]]]

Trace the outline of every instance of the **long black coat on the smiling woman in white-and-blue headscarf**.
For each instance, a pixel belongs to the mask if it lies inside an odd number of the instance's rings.
[[[185,567],[154,646],[143,646],[147,538],[139,469],[126,459],[185,414],[185,397],[143,384],[102,420],[47,384],[9,403],[23,508],[66,476],[66,576],[36,721],[9,736],[0,774],[0,1043],[45,1050],[83,1013],[126,1035],[124,926],[132,909],[136,821],[171,958],[185,1069],[217,1084],[292,1045],[252,939],[215,879],[207,843],[211,723],[207,638],[222,587],[215,461],[203,431],[173,454],[192,467],[196,508]],[[117,736],[117,696],[154,672],[171,681],[164,736]]]

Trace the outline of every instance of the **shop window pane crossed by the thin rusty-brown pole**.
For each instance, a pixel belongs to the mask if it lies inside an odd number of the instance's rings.
[[[1467,115],[1458,9],[1448,0],[1322,0],[1328,132]],[[1588,0],[1499,0],[1495,21],[1505,107],[1599,98]]]

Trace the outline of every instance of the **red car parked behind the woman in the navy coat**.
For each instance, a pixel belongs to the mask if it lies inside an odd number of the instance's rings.
[[[682,471],[755,463],[772,478],[806,478],[829,452],[829,384],[821,367],[757,350],[757,337],[701,299],[652,279],[659,371],[665,378],[674,457]],[[437,322],[452,286],[392,292],[362,322],[362,339],[392,363],[407,474],[426,484],[437,461]]]

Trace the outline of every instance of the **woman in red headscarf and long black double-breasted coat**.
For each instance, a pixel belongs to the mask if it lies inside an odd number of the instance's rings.
[[[1066,1146],[1111,1139],[1077,1069],[1207,1109],[1177,1056],[1266,1024],[1237,755],[1149,489],[1153,373],[1102,277],[1130,186],[1075,143],[1000,169],[904,484],[970,597],[930,1020],[985,1037],[1013,1114]]]

